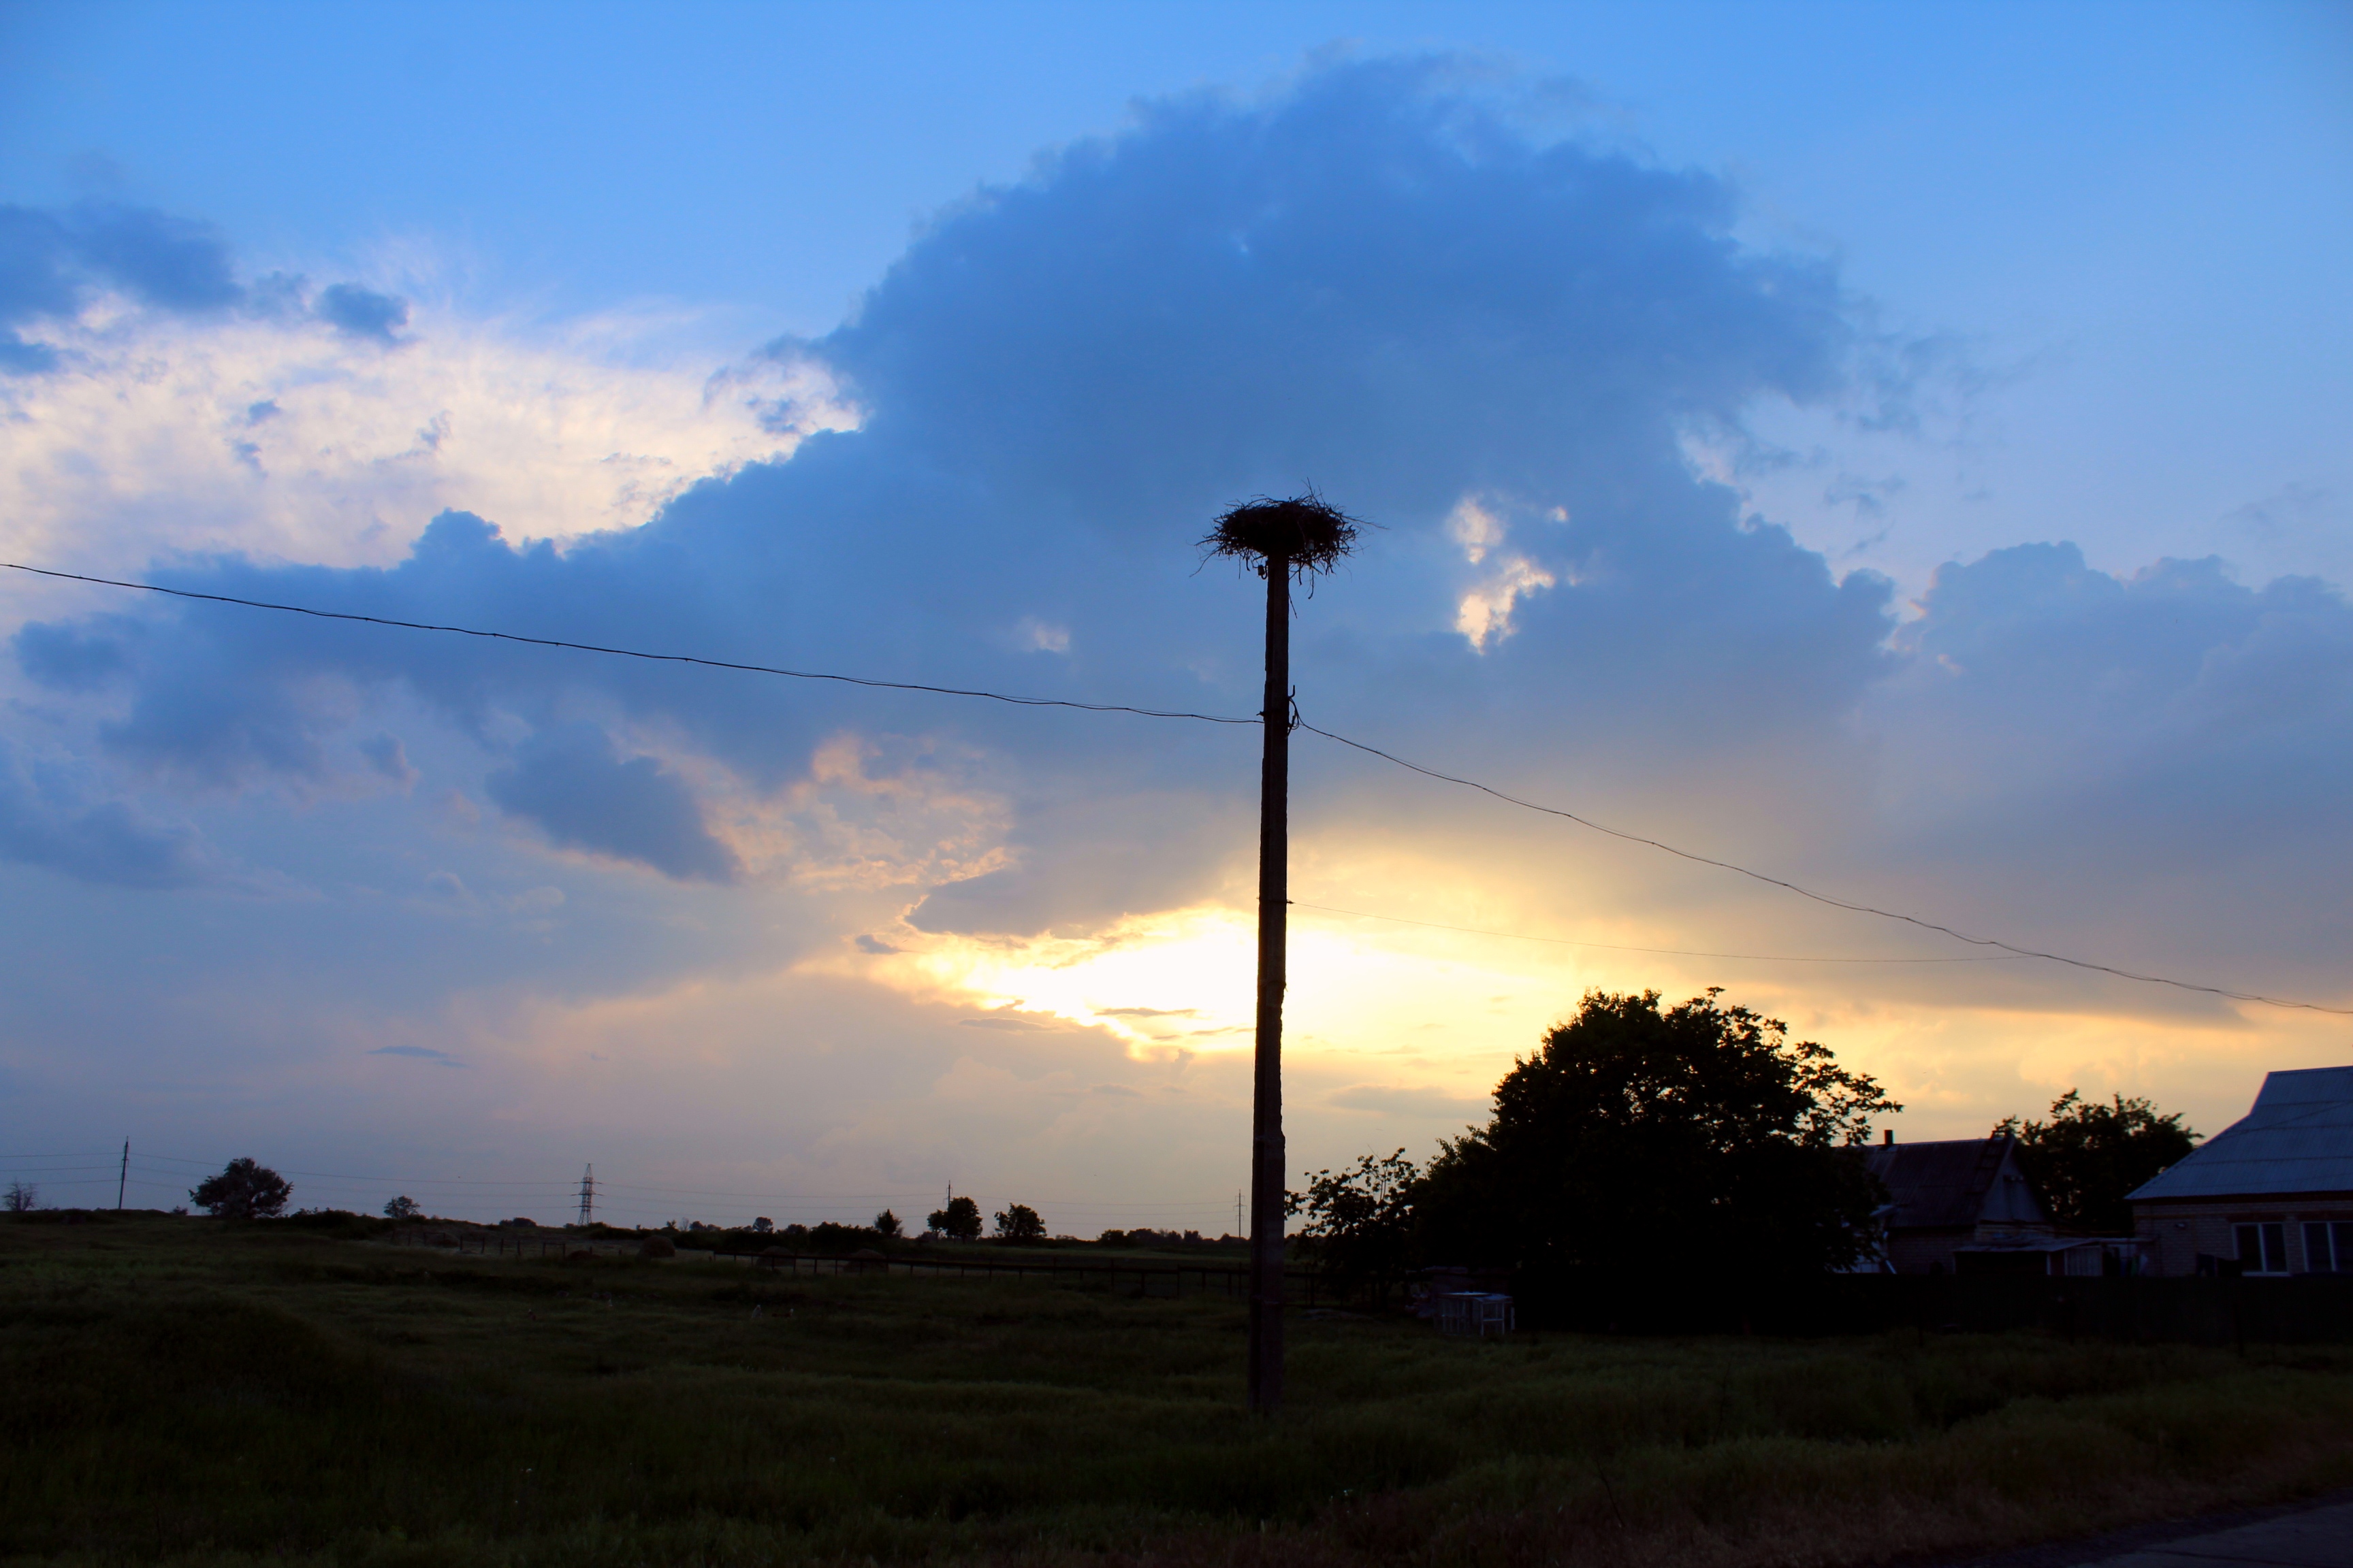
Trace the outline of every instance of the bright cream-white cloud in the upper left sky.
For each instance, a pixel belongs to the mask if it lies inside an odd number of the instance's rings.
[[[198,226],[181,226],[174,282],[162,261],[129,273],[129,240],[94,259],[85,228],[0,214],[0,334],[16,334],[0,369],[24,371],[0,376],[12,559],[106,576],[174,550],[386,564],[445,508],[569,538],[854,418],[807,360],[671,348],[678,313],[527,327],[362,282],[240,284]],[[21,614],[5,590],[0,623]]]

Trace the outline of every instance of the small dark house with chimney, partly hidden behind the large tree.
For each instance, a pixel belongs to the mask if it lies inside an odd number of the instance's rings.
[[[1864,1164],[1887,1187],[1880,1258],[1889,1274],[2007,1272],[1984,1267],[1979,1253],[2007,1255],[2052,1237],[2019,1171],[2017,1138],[1897,1143],[1887,1133],[1887,1143],[1864,1150]],[[2042,1260],[2031,1272],[2054,1269]]]

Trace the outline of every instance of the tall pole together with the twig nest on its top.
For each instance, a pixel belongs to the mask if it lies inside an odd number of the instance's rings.
[[[1249,1095],[1249,1408],[1282,1408],[1282,990],[1289,914],[1292,578],[1332,571],[1358,522],[1315,491],[1252,501],[1202,545],[1266,578],[1266,701],[1259,708],[1259,1048]]]

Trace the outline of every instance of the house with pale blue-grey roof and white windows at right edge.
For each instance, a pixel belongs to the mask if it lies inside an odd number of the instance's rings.
[[[2127,1201],[2153,1274],[2353,1274],[2353,1067],[2266,1074]]]

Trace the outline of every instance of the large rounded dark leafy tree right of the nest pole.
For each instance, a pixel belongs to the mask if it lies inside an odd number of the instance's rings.
[[[1417,1192],[1431,1262],[1758,1279],[1854,1262],[1878,1182],[1842,1152],[1901,1110],[1720,992],[1586,992]]]

